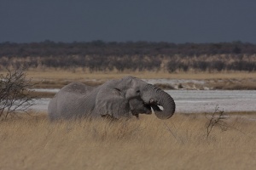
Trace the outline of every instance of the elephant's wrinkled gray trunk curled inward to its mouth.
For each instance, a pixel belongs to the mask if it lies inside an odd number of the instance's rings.
[[[160,88],[155,88],[153,85],[148,85],[149,105],[154,110],[155,116],[160,119],[169,119],[175,112],[175,102],[172,97]],[[160,110],[158,105],[163,107]]]

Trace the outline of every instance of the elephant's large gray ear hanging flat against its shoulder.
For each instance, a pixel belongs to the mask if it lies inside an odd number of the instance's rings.
[[[118,88],[102,88],[96,96],[96,113],[116,119],[130,117],[129,101]]]

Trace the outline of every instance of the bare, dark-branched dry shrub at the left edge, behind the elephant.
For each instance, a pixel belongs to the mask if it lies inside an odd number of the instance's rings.
[[[0,118],[19,111],[28,111],[34,105],[31,95],[33,86],[22,69],[8,70],[7,74],[0,74]]]

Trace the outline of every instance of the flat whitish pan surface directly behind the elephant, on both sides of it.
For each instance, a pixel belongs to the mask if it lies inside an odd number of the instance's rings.
[[[55,89],[55,91],[57,91]],[[256,111],[255,90],[167,90],[176,103],[176,112],[213,112],[220,110]],[[49,99],[38,99],[32,106],[36,111],[47,111]]]

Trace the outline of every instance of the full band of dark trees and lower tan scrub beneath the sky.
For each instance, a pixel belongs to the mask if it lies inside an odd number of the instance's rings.
[[[256,44],[245,42],[0,43],[0,65],[90,71],[256,71]]]

